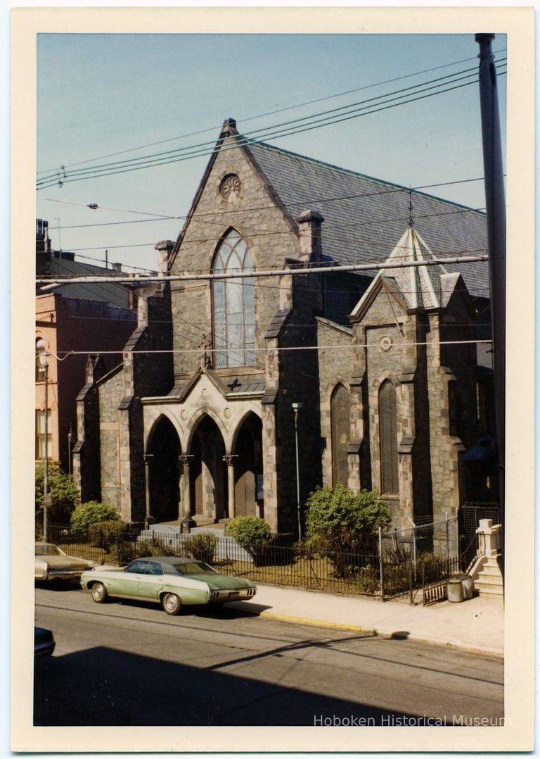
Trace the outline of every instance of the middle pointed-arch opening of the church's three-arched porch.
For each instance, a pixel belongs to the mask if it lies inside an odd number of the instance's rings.
[[[215,421],[204,416],[191,441],[191,513],[218,521],[228,515],[227,466],[223,436]]]

